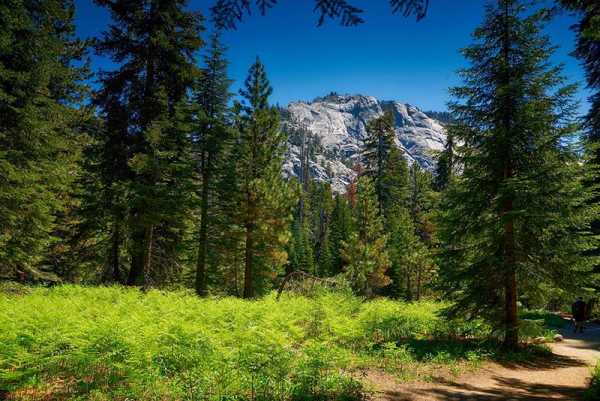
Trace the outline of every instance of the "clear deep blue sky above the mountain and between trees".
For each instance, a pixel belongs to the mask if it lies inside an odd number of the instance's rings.
[[[107,26],[107,13],[92,0],[75,0],[78,33],[99,35]],[[190,8],[208,16],[213,0],[191,0]],[[330,91],[360,93],[380,99],[414,104],[424,110],[445,110],[448,87],[459,83],[456,70],[465,65],[459,49],[471,43],[471,33],[481,23],[485,0],[431,0],[427,17],[392,15],[387,0],[353,0],[365,10],[366,23],[342,27],[327,21],[316,27],[314,0],[279,0],[266,17],[257,10],[224,35],[229,47],[230,75],[234,89],[259,55],[274,87],[273,103],[311,100]],[[555,62],[566,65],[565,73],[583,86],[583,71],[569,53],[575,20],[565,14],[549,27],[559,46]],[[207,18],[207,28],[210,24]],[[106,60],[94,58],[94,68],[110,68]],[[587,108],[582,88],[578,98]]]

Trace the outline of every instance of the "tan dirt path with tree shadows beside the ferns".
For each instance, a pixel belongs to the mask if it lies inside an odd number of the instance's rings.
[[[563,332],[551,344],[554,357],[520,364],[491,363],[451,382],[395,384],[377,380],[377,401],[576,401],[582,399],[590,366],[600,358],[600,325],[583,334]]]

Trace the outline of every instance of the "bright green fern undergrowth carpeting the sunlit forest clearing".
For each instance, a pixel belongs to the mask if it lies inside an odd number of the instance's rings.
[[[0,398],[351,401],[357,371],[427,378],[498,356],[445,305],[323,292],[257,301],[60,286],[0,291]]]

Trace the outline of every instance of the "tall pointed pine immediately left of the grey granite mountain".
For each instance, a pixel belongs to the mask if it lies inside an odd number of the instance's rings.
[[[247,104],[234,151],[240,195],[236,213],[244,230],[244,298],[268,287],[287,261],[284,245],[293,199],[281,176],[286,137],[279,129],[277,109],[269,106],[272,91],[257,58],[240,91]]]

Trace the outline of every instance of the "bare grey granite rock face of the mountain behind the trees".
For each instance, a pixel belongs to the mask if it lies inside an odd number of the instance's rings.
[[[443,149],[446,131],[436,120],[418,108],[396,101],[380,101],[372,96],[331,94],[312,102],[295,102],[283,113],[288,131],[304,128],[310,132],[309,173],[318,181],[331,183],[334,192],[345,192],[354,179],[352,167],[358,162],[366,137],[366,124],[391,109],[396,120],[396,145],[409,163],[435,167],[435,155]],[[298,176],[301,146],[290,138],[284,174]]]

